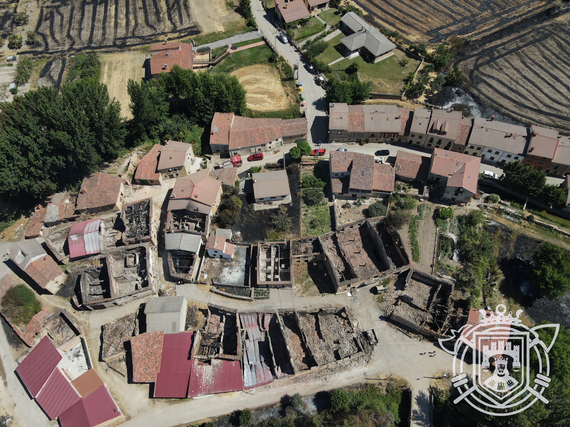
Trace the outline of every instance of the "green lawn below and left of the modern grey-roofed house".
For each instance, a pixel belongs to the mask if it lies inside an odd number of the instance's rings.
[[[398,61],[404,58],[408,58],[409,63],[405,67],[400,67]],[[404,88],[404,77],[410,72],[416,71],[418,64],[420,64],[420,61],[394,49],[394,55],[376,64],[364,62],[360,56],[357,56],[355,59],[343,59],[335,63],[333,68],[347,68],[354,62],[360,65],[360,78],[363,81],[370,80],[374,84],[373,92],[390,94],[401,93]]]

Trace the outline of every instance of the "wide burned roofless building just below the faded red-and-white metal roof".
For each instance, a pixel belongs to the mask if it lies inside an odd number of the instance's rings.
[[[81,274],[83,306],[87,309],[111,307],[155,293],[153,264],[148,243],[107,252],[100,266]]]

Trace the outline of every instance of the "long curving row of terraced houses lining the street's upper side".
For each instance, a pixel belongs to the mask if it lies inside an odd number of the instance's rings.
[[[396,105],[329,104],[329,142],[405,142],[474,155],[495,165],[520,161],[547,174],[570,173],[570,138],[460,111]]]

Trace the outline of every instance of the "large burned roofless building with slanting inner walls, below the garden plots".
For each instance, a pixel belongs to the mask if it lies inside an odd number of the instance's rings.
[[[409,266],[400,235],[385,217],[350,223],[320,236],[325,265],[336,291],[358,281],[393,274]]]

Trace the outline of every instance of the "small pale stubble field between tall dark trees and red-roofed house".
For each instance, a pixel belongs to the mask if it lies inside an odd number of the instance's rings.
[[[127,81],[140,81],[145,76],[144,62],[148,55],[142,51],[117,52],[116,54],[100,54],[101,83],[107,85],[109,97],[121,103],[121,114],[131,118],[129,111],[129,94]]]

